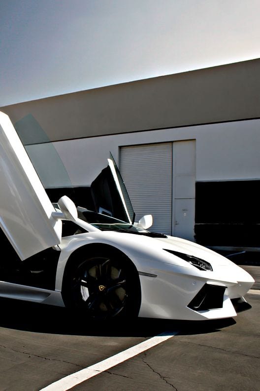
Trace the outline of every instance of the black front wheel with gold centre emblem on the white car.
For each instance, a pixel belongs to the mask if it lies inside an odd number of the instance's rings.
[[[140,282],[127,257],[117,251],[99,251],[76,265],[66,274],[64,298],[67,307],[95,320],[138,315]]]

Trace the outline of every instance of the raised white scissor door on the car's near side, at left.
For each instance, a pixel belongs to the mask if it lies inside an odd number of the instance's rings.
[[[8,116],[0,112],[0,226],[24,260],[60,243],[62,223]]]

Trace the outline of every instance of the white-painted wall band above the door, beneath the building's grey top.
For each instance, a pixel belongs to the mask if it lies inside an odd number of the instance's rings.
[[[121,146],[196,141],[196,181],[260,179],[260,119],[160,129],[53,143],[72,185],[90,185]],[[34,151],[44,148],[31,146]],[[58,186],[60,184],[57,184]]]

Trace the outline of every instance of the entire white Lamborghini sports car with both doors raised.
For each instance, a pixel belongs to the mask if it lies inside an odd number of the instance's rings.
[[[250,308],[243,297],[254,283],[250,274],[191,241],[147,231],[150,215],[134,222],[112,158],[90,195],[92,210],[66,195],[52,203],[0,113],[0,297],[94,319],[205,320]]]

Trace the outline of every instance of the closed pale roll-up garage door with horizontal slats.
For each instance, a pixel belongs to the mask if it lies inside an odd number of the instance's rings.
[[[171,234],[172,143],[120,149],[120,172],[127,187],[135,221],[152,214],[153,232]]]

